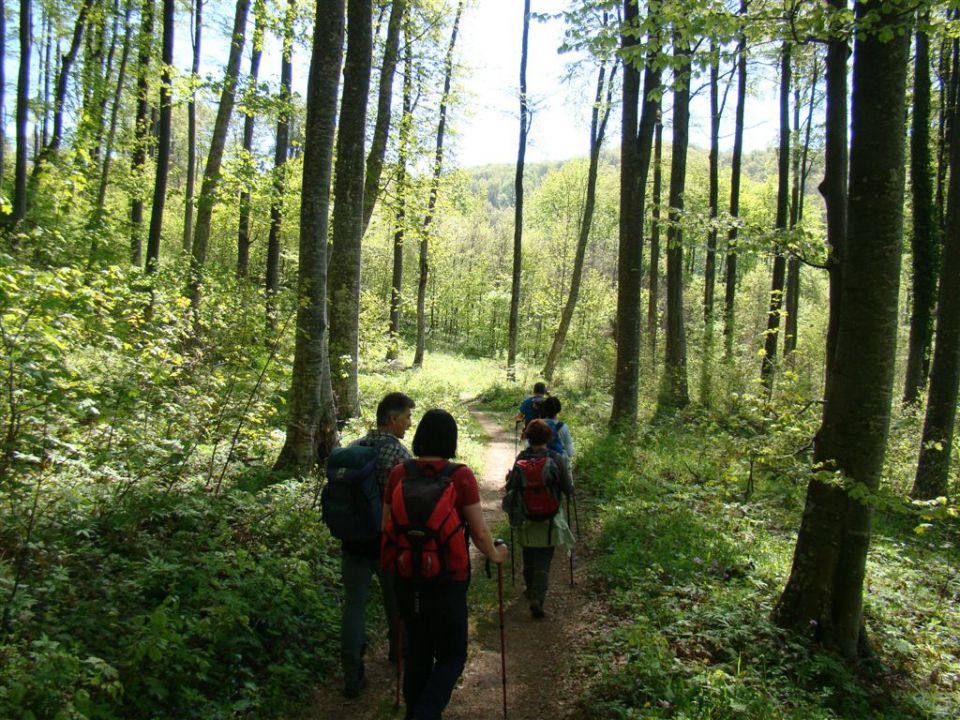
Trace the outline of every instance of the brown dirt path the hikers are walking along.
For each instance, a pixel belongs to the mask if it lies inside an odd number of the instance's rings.
[[[514,438],[490,415],[474,413],[489,445],[484,470],[479,479],[484,516],[491,527],[501,524],[501,489],[504,476],[513,464]],[[580,550],[580,548],[577,548]],[[534,720],[572,717],[578,693],[577,678],[571,672],[571,649],[591,635],[595,617],[594,596],[586,589],[587,567],[582,552],[575,554],[574,586],[570,586],[567,557],[557,552],[550,573],[550,591],[545,610],[547,617],[534,620],[523,598],[520,548],[516,586],[510,582],[510,561],[503,567],[504,636],[506,638],[507,707],[510,718]],[[493,590],[492,610],[480,611],[471,592],[470,642],[467,666],[454,690],[445,720],[487,720],[500,717],[503,685],[500,662],[500,625],[496,600],[496,575],[488,580],[483,574],[483,556],[473,548],[473,583],[489,583]],[[586,559],[589,562],[589,557]],[[494,571],[495,572],[495,571]],[[474,588],[473,590],[477,590]],[[318,688],[309,714],[311,720],[384,720],[402,717],[394,714],[396,668],[386,660],[385,640],[367,652],[370,685],[355,700],[347,700],[340,690],[339,676]]]

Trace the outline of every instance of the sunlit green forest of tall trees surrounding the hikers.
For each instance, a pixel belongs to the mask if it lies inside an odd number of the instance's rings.
[[[541,380],[582,536],[518,716],[960,716],[960,0],[502,2],[464,167],[492,2],[0,0],[0,717],[400,717],[325,709],[325,461],[402,391],[502,479]],[[528,161],[548,23],[589,122]]]

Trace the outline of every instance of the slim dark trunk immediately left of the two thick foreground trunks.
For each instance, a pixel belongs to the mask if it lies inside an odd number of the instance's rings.
[[[270,202],[270,234],[267,238],[266,305],[267,327],[276,324],[276,295],[280,292],[280,228],[283,224],[283,194],[287,187],[287,158],[290,155],[290,98],[293,84],[293,33],[297,17],[296,0],[287,0],[283,24],[283,58],[280,61],[280,112],[277,141],[273,152],[273,199]]]

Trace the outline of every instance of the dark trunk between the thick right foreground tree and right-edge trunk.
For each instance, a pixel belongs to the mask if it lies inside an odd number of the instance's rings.
[[[920,16],[921,25],[929,18]],[[913,61],[913,118],[910,126],[910,187],[913,196],[913,264],[910,341],[903,402],[913,403],[930,372],[933,340],[933,304],[937,288],[937,223],[933,205],[933,165],[930,154],[930,38],[923,29],[916,33]],[[956,174],[952,175],[956,177]]]

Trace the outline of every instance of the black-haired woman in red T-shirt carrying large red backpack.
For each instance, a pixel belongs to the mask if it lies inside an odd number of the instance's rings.
[[[457,423],[427,411],[413,436],[416,460],[393,469],[383,505],[384,567],[396,572],[404,629],[405,720],[439,720],[467,661],[469,540],[495,563],[477,479],[457,453]]]

